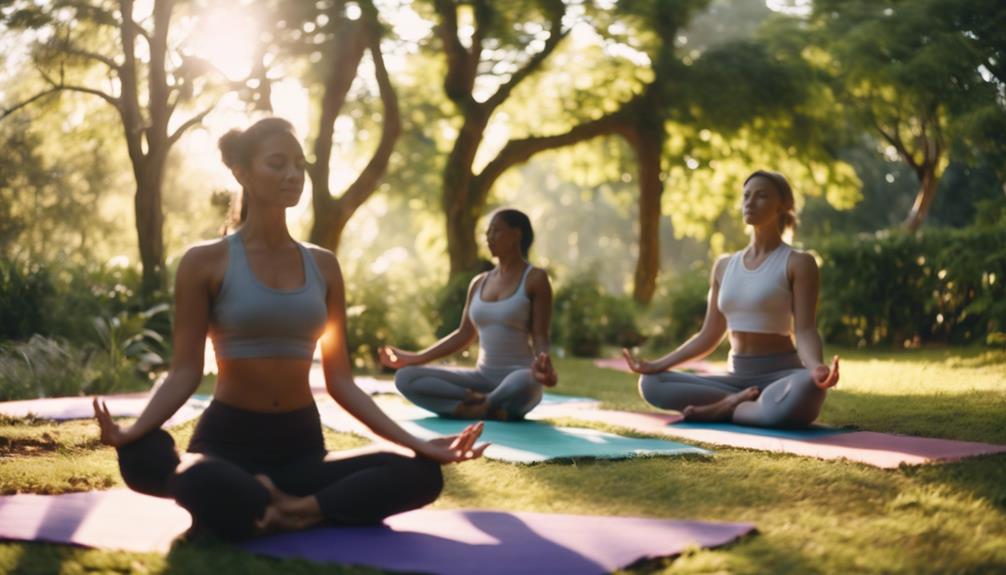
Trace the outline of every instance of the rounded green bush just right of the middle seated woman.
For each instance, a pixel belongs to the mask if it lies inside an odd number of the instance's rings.
[[[602,346],[635,347],[644,340],[631,298],[605,293],[595,273],[573,275],[555,293],[552,340],[575,357],[598,357]]]

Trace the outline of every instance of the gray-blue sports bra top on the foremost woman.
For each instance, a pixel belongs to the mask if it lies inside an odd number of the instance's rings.
[[[326,284],[314,256],[297,244],[304,285],[273,290],[252,272],[240,233],[227,236],[227,270],[212,302],[209,335],[218,358],[311,359],[325,331]]]

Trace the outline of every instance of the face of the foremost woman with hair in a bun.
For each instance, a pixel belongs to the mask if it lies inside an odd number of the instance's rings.
[[[263,207],[296,206],[304,192],[304,151],[293,134],[273,134],[263,140],[248,168],[235,175],[253,201]]]

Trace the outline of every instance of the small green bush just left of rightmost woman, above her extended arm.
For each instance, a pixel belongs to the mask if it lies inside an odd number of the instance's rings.
[[[697,266],[671,275],[654,300],[650,312],[654,328],[647,345],[657,353],[667,353],[698,333],[705,318],[709,293],[709,269]]]

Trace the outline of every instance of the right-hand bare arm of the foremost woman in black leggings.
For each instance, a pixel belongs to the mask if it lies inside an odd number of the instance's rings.
[[[317,253],[317,251],[316,251]],[[387,416],[373,399],[353,383],[346,349],[346,298],[342,271],[335,255],[324,252],[318,259],[319,267],[328,284],[326,304],[328,321],[321,340],[322,368],[325,387],[329,395],[346,411],[362,421],[377,435],[412,449],[417,454],[441,462],[460,461],[481,455],[485,446],[472,449],[481,427],[470,426],[462,433],[461,445],[447,446],[439,441],[426,441],[408,433]],[[478,429],[473,432],[473,429]]]

